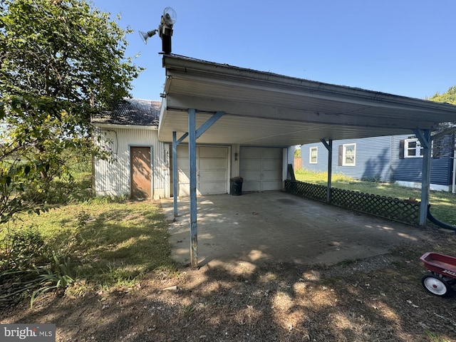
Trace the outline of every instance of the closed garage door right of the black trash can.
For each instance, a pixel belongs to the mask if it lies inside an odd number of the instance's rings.
[[[242,191],[281,190],[281,148],[241,147],[240,174],[244,177]]]

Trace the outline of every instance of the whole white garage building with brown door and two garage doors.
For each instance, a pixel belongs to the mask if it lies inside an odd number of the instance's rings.
[[[172,142],[158,140],[160,101],[129,99],[93,118],[112,160],[95,160],[95,195],[133,198],[172,196]],[[177,139],[182,136],[182,132]],[[177,195],[190,194],[189,148],[177,146]],[[282,190],[294,147],[197,145],[197,194],[230,192],[230,179],[243,177],[243,192]]]

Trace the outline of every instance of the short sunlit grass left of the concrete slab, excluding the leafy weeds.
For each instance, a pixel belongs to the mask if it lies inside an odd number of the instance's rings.
[[[22,215],[0,234],[18,230],[38,232],[46,249],[70,258],[71,276],[91,287],[133,286],[148,271],[175,270],[167,223],[152,202],[92,199]]]

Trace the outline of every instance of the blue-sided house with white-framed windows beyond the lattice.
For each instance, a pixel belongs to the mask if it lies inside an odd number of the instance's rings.
[[[445,135],[432,145],[431,189],[452,190],[455,136]],[[334,140],[333,174],[341,173],[357,180],[396,182],[420,187],[423,155],[415,135],[390,135],[375,138]],[[328,150],[321,142],[301,146],[302,167],[326,171]]]

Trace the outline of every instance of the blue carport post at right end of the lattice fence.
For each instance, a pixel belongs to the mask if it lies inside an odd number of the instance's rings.
[[[421,176],[421,203],[420,203],[420,226],[426,224],[427,204],[429,204],[430,190],[430,161],[431,161],[431,138],[430,130],[413,130],[416,138],[423,146],[423,175]]]

